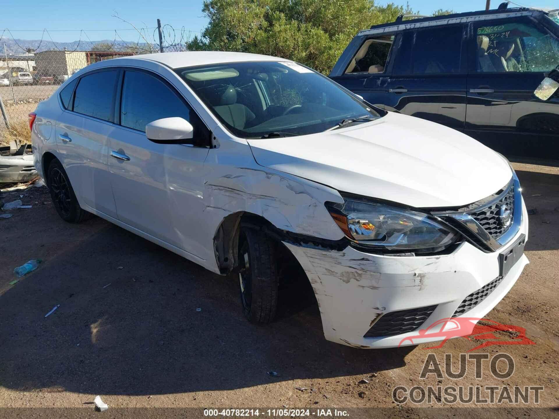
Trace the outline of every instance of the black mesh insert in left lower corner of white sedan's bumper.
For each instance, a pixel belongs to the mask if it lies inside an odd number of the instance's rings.
[[[418,307],[386,313],[363,337],[394,336],[417,330],[437,306]]]

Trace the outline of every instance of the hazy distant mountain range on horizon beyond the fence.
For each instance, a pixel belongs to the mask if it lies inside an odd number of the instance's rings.
[[[4,55],[4,44],[6,44],[6,53],[10,54],[24,54],[27,48],[32,48],[35,50],[36,53],[41,51],[48,51],[48,50],[63,50],[66,48],[68,51],[89,51],[91,50],[93,45],[96,44],[108,44],[113,45],[114,40],[103,39],[100,41],[72,41],[72,42],[53,42],[50,40],[43,39],[12,39],[3,36],[0,38],[0,55]],[[115,42],[113,48],[118,51],[123,49],[126,46],[136,46],[136,42],[122,42],[117,41]],[[139,44],[140,47],[147,47],[147,44]]]

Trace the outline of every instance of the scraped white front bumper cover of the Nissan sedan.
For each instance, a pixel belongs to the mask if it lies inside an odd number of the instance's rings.
[[[527,218],[523,205],[522,226],[509,245],[522,234],[528,237]],[[499,277],[500,252],[484,253],[468,242],[452,254],[440,256],[373,255],[349,246],[336,251],[285,244],[312,284],[326,339],[360,348],[395,347],[406,337],[418,334],[415,330],[395,336],[363,337],[379,316],[436,305],[421,325],[426,328],[451,317],[467,296]],[[494,291],[464,317],[484,317],[509,292],[528,263],[522,255]],[[438,340],[442,338],[425,337],[421,342]]]

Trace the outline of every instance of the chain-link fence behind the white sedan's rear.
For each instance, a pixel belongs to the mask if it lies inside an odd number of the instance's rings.
[[[40,41],[16,39],[8,29],[0,32],[0,145],[7,145],[14,136],[29,141],[29,113],[78,70],[121,56],[185,51],[188,40],[200,35],[200,31],[175,30],[170,25],[134,27],[138,41],[127,42],[120,31],[125,30],[115,30],[113,41],[97,42],[83,30],[76,31],[79,41],[75,42],[54,42],[46,30]]]

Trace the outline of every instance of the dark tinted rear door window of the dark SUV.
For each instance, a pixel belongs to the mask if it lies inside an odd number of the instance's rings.
[[[462,27],[419,30],[413,47],[414,74],[459,73]]]

